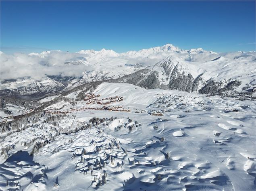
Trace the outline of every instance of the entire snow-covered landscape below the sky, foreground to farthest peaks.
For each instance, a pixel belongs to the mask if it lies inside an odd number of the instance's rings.
[[[0,190],[256,189],[255,51],[0,61]]]

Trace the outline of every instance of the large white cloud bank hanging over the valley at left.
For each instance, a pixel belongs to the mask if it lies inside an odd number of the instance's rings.
[[[1,53],[0,80],[20,77],[31,77],[40,80],[46,75],[82,76],[84,71],[91,70],[92,67],[86,65],[86,60],[83,60],[84,64],[76,63],[80,59],[81,54],[61,51],[29,55]]]

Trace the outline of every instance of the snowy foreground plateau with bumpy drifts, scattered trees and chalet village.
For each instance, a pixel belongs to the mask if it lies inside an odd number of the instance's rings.
[[[254,101],[127,83],[44,101],[0,123],[1,190],[256,188]]]

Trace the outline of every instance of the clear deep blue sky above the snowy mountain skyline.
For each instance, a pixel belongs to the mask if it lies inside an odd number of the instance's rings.
[[[255,50],[255,1],[0,1],[1,51]]]

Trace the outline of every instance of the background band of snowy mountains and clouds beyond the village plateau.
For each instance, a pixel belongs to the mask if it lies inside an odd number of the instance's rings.
[[[2,53],[0,59],[4,68],[1,73],[1,89],[4,90],[1,92],[8,96],[42,96],[91,81],[118,78],[121,78],[118,82],[131,82],[146,88],[201,93],[216,93],[211,89],[213,86],[218,86],[218,92],[224,91],[223,88],[225,91],[234,89],[227,85],[235,80],[235,90],[239,92],[251,92],[256,88],[254,51],[214,53],[201,48],[183,50],[167,44],[127,53],[106,49],[77,53],[45,51],[29,55]],[[130,82],[122,78],[125,75],[131,75]]]

